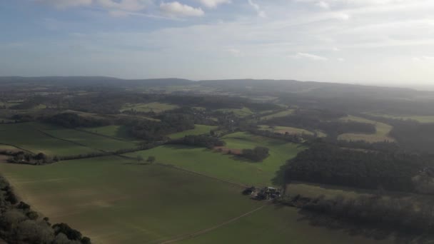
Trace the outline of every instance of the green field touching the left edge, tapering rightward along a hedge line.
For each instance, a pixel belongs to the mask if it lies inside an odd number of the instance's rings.
[[[89,147],[47,136],[37,131],[34,123],[1,124],[0,143],[10,144],[33,153],[46,153],[50,156],[74,156],[97,152]]]

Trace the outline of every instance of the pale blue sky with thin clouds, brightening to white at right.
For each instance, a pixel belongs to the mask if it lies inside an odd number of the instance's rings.
[[[433,0],[2,0],[0,76],[434,87]]]

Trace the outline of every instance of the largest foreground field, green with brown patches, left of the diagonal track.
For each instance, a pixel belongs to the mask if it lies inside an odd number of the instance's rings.
[[[0,163],[0,170],[51,223],[68,223],[94,243],[161,243],[263,204],[229,183],[128,163],[105,157],[41,167]]]

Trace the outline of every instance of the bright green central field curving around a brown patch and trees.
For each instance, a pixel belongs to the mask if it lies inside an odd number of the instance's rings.
[[[224,136],[223,140],[226,141],[226,147],[234,149],[266,146],[270,148],[270,156],[263,162],[253,163],[237,156],[188,146],[159,146],[147,151],[128,153],[128,156],[141,155],[143,158],[155,156],[159,163],[171,164],[245,185],[261,186],[271,185],[276,171],[288,159],[295,157],[304,149],[298,144],[253,136],[249,133],[233,133]]]

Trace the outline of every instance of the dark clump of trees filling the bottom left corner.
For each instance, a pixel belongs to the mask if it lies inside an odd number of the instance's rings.
[[[65,223],[51,225],[30,205],[19,202],[11,185],[0,176],[0,238],[7,243],[90,244],[78,230]]]

